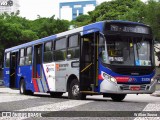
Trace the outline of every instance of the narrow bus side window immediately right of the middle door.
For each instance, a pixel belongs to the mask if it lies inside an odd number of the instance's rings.
[[[52,42],[47,42],[44,44],[44,62],[52,62],[53,60],[53,52],[52,52]]]

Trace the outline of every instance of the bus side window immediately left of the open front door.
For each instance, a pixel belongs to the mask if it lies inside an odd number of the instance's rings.
[[[70,56],[69,59],[79,58],[79,36],[78,35],[73,35],[69,37],[67,55]]]

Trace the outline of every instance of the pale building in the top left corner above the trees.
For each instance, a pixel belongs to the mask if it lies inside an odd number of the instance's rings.
[[[18,0],[0,0],[0,14],[3,13],[12,13],[17,12],[19,10],[19,2]]]

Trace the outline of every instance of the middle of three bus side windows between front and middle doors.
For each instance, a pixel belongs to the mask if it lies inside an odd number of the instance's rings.
[[[54,60],[66,59],[66,38],[61,38],[55,41]]]

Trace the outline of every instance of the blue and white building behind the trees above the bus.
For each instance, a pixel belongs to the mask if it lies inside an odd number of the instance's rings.
[[[60,2],[59,18],[74,20],[77,16],[87,14],[96,7],[96,0],[76,0],[72,2]],[[67,12],[66,12],[67,11]]]

